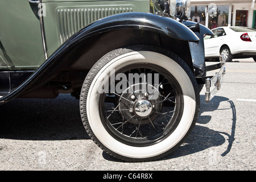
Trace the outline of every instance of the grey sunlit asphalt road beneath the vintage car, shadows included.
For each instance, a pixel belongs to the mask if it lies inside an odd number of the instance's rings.
[[[227,63],[217,96],[206,104],[201,92],[200,116],[185,143],[145,163],[102,152],[86,134],[75,98],[17,98],[0,106],[0,170],[255,170],[255,78],[252,59]]]

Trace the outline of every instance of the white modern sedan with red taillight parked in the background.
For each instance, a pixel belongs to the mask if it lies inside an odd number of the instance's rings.
[[[218,27],[214,35],[204,37],[205,59],[218,59],[220,55],[227,62],[233,58],[253,57],[256,61],[256,30],[249,27]]]

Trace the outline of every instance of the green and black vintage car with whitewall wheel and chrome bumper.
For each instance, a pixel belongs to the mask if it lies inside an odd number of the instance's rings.
[[[196,123],[203,85],[209,102],[225,75],[225,61],[205,65],[212,31],[189,22],[189,8],[186,0],[1,1],[0,104],[71,94],[108,154],[131,162],[170,154]]]

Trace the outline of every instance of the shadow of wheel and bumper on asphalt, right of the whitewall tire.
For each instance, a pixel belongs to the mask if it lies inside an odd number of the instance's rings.
[[[210,115],[201,116],[201,114],[207,111],[219,110],[218,106],[220,102],[229,102],[230,104],[230,107],[226,108],[232,111],[232,113],[230,112],[230,114],[232,114],[233,122],[232,122],[232,130],[230,131],[230,134],[222,133],[220,131],[214,131],[212,129],[209,129],[208,127],[202,126],[210,122],[211,116]],[[204,96],[201,96],[201,108],[200,108],[199,117],[197,119],[197,123],[200,123],[201,125],[196,125],[194,127],[191,134],[188,136],[188,138],[179,148],[177,148],[170,155],[159,160],[179,158],[181,156],[190,155],[199,151],[203,151],[210,147],[221,146],[226,142],[226,139],[223,137],[223,135],[226,135],[229,138],[228,139],[229,144],[228,144],[228,148],[226,149],[226,151],[224,151],[221,154],[221,156],[225,156],[229,153],[229,151],[232,148],[232,144],[234,141],[234,133],[236,130],[236,107],[234,106],[233,101],[229,101],[229,98],[226,98],[226,97],[215,96],[208,104],[206,104],[204,102]],[[122,160],[115,159],[113,156],[110,156],[106,152],[103,152],[102,155],[106,160],[123,162]]]

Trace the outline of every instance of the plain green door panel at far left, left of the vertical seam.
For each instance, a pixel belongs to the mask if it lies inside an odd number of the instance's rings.
[[[0,1],[0,71],[35,70],[45,61],[38,4],[31,2]]]

